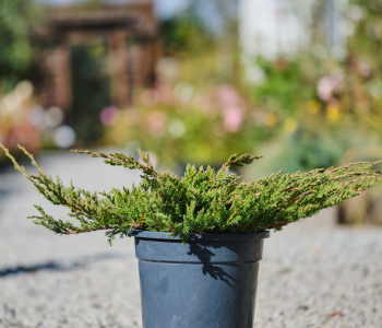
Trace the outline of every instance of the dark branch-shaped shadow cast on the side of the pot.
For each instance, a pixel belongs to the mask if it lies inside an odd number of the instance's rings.
[[[201,244],[192,243],[192,242],[189,243],[189,245],[190,245],[190,250],[188,255],[194,255],[199,258],[199,260],[203,265],[202,270],[204,276],[210,274],[213,279],[222,280],[223,282],[228,284],[230,288],[235,288],[235,284],[237,282],[236,279],[232,276],[228,274],[220,266],[213,265],[211,262],[211,259],[215,256],[215,254],[211,249],[208,249],[213,247],[212,245],[208,245],[211,246],[208,248],[205,246],[202,246]],[[214,247],[214,248],[217,248],[217,247]],[[227,262],[227,265],[229,263]]]

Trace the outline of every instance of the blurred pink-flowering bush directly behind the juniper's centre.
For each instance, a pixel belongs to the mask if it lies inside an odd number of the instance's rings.
[[[177,169],[177,163],[186,162],[218,166],[231,153],[250,152],[258,140],[266,139],[264,114],[253,115],[235,87],[199,92],[186,82],[142,91],[134,108],[116,112],[106,141],[128,151],[145,149]]]

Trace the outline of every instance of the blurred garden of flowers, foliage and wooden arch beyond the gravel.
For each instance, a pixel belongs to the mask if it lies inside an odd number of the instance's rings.
[[[247,179],[382,157],[378,0],[2,0],[0,141]],[[9,165],[0,153],[1,165]],[[337,209],[382,223],[382,189]]]

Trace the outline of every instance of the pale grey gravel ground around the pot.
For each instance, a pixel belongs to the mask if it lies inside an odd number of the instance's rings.
[[[79,154],[39,162],[91,190],[139,180]],[[0,175],[0,327],[142,327],[133,241],[109,247],[103,233],[55,235],[25,219],[34,203],[64,219],[21,174]],[[323,211],[265,241],[254,327],[382,328],[382,230],[333,219]]]

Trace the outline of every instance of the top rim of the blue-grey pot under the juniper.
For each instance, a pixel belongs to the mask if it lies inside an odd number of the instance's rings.
[[[168,239],[168,241],[181,241],[179,236],[172,237],[170,232],[154,232],[146,230],[132,230],[131,235],[135,238],[142,239]],[[244,239],[264,239],[270,237],[270,231],[263,230],[255,233],[234,233],[234,234],[192,234],[189,242],[199,241],[244,241]]]

